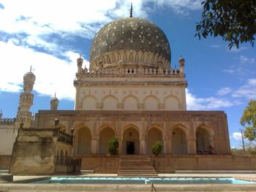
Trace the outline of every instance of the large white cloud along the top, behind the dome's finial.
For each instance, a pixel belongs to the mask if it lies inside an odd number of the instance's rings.
[[[187,15],[189,9],[200,9],[200,0],[133,0],[134,16],[147,18],[151,7],[170,7],[178,15]],[[34,46],[53,55],[61,55],[64,45],[47,38],[52,34],[59,39],[83,37],[92,39],[105,23],[116,18],[129,17],[130,1],[82,1],[82,0],[2,0],[0,32],[7,33],[16,45]],[[154,6],[148,7],[148,4]],[[157,9],[157,8],[156,8]],[[26,37],[19,37],[26,34]],[[10,38],[10,37],[8,37]],[[2,35],[1,39],[8,39]],[[63,55],[62,55],[63,56]]]

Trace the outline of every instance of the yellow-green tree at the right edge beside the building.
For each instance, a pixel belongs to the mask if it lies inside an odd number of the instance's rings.
[[[256,101],[251,100],[244,110],[240,120],[241,126],[245,127],[244,137],[249,141],[256,139]]]

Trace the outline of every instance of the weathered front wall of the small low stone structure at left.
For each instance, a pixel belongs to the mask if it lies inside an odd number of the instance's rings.
[[[56,150],[53,134],[53,131],[46,129],[19,129],[13,145],[10,173],[53,174]]]

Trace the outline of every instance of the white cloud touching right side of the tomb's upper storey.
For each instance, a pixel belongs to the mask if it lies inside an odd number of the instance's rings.
[[[216,110],[241,104],[239,101],[214,96],[199,98],[186,90],[187,110]]]

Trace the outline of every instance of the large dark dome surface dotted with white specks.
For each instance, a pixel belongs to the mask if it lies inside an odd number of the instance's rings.
[[[170,45],[161,28],[141,18],[122,18],[102,27],[94,37],[90,61],[116,50],[142,50],[170,62]]]

